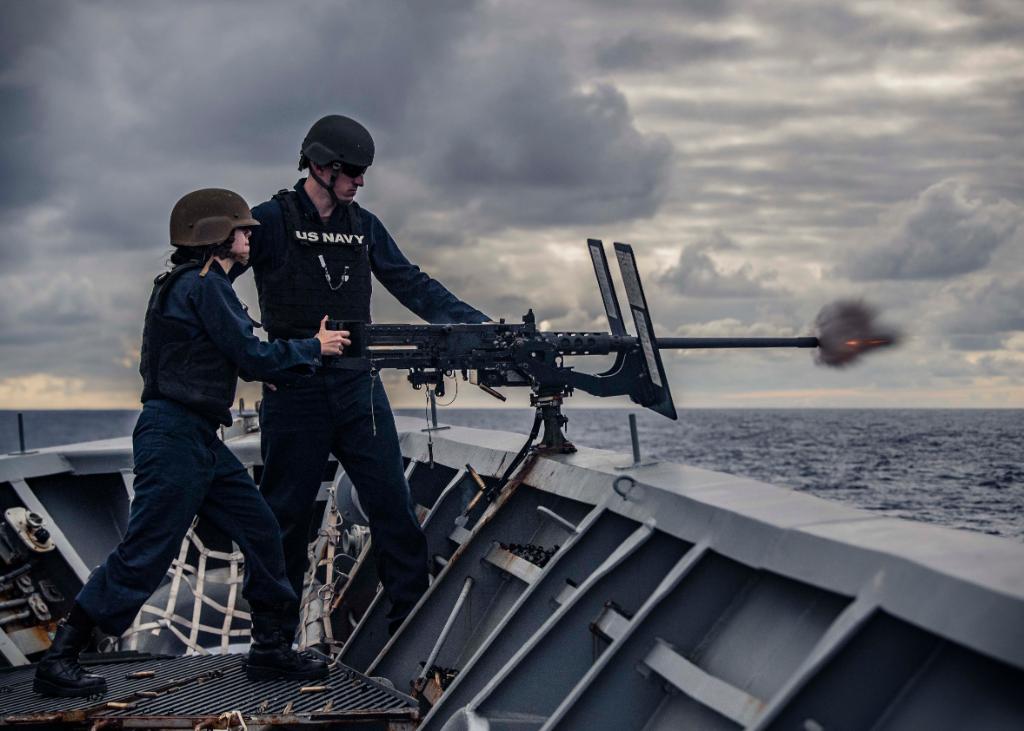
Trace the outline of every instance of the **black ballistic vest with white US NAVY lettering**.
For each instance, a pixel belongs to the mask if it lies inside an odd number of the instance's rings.
[[[284,263],[261,272],[259,306],[271,339],[311,338],[325,314],[369,322],[370,242],[358,205],[324,222],[303,212],[294,190],[281,190],[273,200],[284,214],[287,245]]]

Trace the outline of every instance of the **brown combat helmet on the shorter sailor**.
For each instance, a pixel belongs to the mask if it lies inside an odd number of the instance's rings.
[[[236,228],[258,225],[239,193],[219,187],[193,190],[171,211],[171,246],[220,244]]]

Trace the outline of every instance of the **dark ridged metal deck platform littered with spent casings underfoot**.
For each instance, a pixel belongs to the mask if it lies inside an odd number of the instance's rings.
[[[416,701],[345,665],[325,680],[250,682],[245,655],[146,657],[89,663],[106,678],[92,698],[47,698],[32,690],[33,665],[0,673],[0,727],[231,728],[343,725],[407,729]]]

